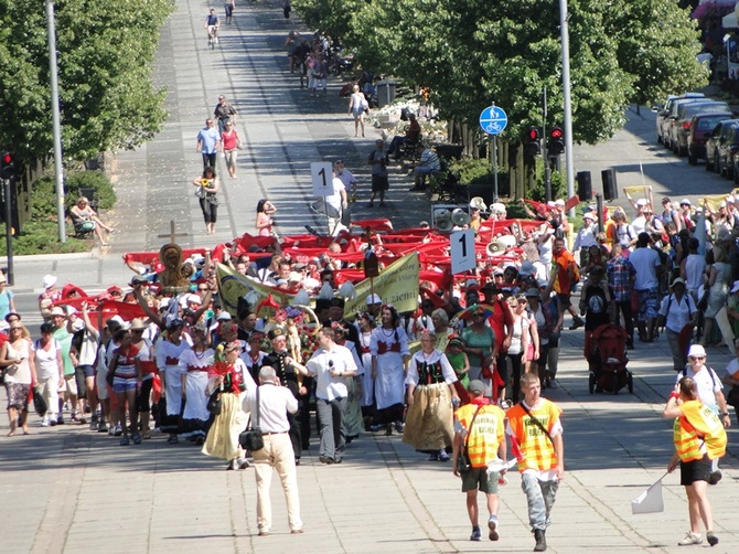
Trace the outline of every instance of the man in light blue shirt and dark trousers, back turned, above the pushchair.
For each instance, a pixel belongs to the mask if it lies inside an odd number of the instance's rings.
[[[642,342],[654,342],[654,328],[660,303],[660,279],[662,270],[660,255],[650,248],[649,233],[640,233],[636,249],[629,256],[629,262],[636,270],[634,290],[639,297],[639,338]]]

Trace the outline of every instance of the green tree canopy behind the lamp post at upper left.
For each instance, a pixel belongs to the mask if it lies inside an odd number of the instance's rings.
[[[65,158],[84,160],[132,148],[161,128],[165,90],[150,63],[170,0],[58,0],[62,140]],[[25,160],[52,151],[44,2],[0,0],[0,143]]]

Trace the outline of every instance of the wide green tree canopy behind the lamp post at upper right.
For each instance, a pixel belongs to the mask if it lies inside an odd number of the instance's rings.
[[[309,25],[339,34],[364,67],[428,86],[441,115],[473,124],[492,102],[508,136],[563,122],[557,0],[294,0]],[[674,0],[569,0],[572,132],[595,143],[632,102],[706,84],[698,31]]]

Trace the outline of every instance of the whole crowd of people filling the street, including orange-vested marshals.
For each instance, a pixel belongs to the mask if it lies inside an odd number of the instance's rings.
[[[234,2],[228,4],[233,12]],[[308,52],[301,62],[302,46],[291,33],[286,43],[291,68],[306,72],[311,95],[325,92],[325,61]],[[364,136],[366,107],[360,96],[357,85],[350,113],[355,132]],[[227,157],[229,177],[236,178],[240,139],[235,116],[221,96],[214,117],[197,136],[203,174],[193,184],[207,234],[215,232],[218,205],[217,152]],[[390,152],[397,153],[405,140],[400,138],[390,143]],[[377,140],[367,162],[370,205],[378,195],[383,206],[388,188],[383,140]],[[422,177],[424,170],[416,175],[416,188]],[[718,542],[705,487],[696,483],[708,482],[711,475],[716,479],[713,460],[721,449],[698,444],[697,432],[679,422],[689,418],[700,430],[695,413],[705,406],[721,429],[728,427],[721,383],[739,390],[739,362],[718,379],[705,366],[703,349],[720,341],[739,348],[739,267],[732,266],[739,259],[733,239],[739,210],[732,195],[701,215],[689,201],[681,202],[678,210],[668,198],[662,201],[661,215],[652,199],[635,200],[632,217],[625,210],[598,214],[588,206],[578,230],[567,217],[564,200],[525,203],[531,225],[508,220],[503,204],[489,210],[473,200],[469,223],[458,227],[472,228],[485,249],[474,271],[450,279],[445,262],[421,257],[425,278],[416,309],[399,313],[370,294],[358,313],[345,313],[347,295],[338,277],[361,268],[357,259],[367,251],[392,257],[397,243],[382,233],[358,239],[352,235],[342,212],[356,180],[342,160],[334,163],[333,184],[334,194],[325,201],[334,209],[326,212],[333,241],[322,253],[292,252],[275,232],[277,207],[264,199],[257,206],[255,234],[261,242],[242,248],[234,241],[188,257],[185,290],[162,287],[157,264],[127,262],[136,271],[127,289],[111,286],[97,297],[87,297],[72,284],[57,287],[54,276],[45,276],[39,297],[44,323],[38,340],[31,338],[35,330],[23,326],[0,276],[0,367],[9,436],[19,429],[31,432],[28,414],[36,395],[46,406],[42,426],[89,424],[92,432],[118,437],[121,447],[150,440],[153,424],[170,445],[197,445],[203,454],[222,459],[227,470],[255,465],[260,535],[271,529],[272,467],[286,491],[290,529],[302,532],[296,466],[311,446],[313,412],[318,459],[326,466],[342,464],[349,445],[362,433],[396,433],[430,461],[451,460],[452,471],[462,478],[473,541],[481,539],[478,490],[486,496],[489,537],[500,537],[497,483],[505,468],[492,473],[488,468],[491,460],[505,462],[512,454],[528,500],[535,550],[544,551],[565,467],[561,409],[542,391],[558,386],[560,337],[569,313],[570,330],[585,328],[586,355],[592,332],[602,324],[622,327],[630,349],[636,347],[634,331],[649,344],[664,329],[677,373],[676,394],[664,411],[678,420],[677,454],[668,467],[674,469],[679,460],[687,468],[683,484],[690,501],[692,530],[683,544],[701,541],[698,512],[706,540]],[[437,224],[422,223],[410,234],[418,244],[438,242],[448,258],[448,237]],[[701,225],[705,228],[698,228]],[[502,247],[492,253],[486,248],[492,244]],[[578,251],[579,263],[574,256]],[[385,266],[388,260],[383,259]],[[291,305],[265,308],[246,299],[235,309],[224,309],[216,262],[276,292],[304,291],[312,300],[313,319]],[[106,303],[118,315],[106,317]],[[694,328],[699,342],[690,347]],[[249,452],[238,435],[257,418],[265,447]],[[717,428],[713,425],[710,430]],[[689,456],[679,449],[686,443]],[[693,461],[699,464],[690,469]]]

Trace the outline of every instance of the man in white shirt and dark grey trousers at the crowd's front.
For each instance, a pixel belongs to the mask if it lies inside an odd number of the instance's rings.
[[[346,347],[334,342],[333,329],[324,327],[318,334],[319,349],[306,363],[308,374],[315,376],[315,409],[319,420],[319,460],[341,464],[346,449],[344,412],[346,409],[345,377],[356,375],[356,363]]]

